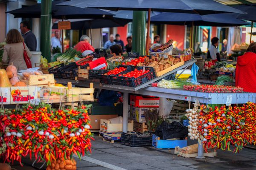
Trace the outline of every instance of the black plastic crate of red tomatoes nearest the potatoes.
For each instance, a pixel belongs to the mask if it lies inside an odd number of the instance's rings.
[[[137,66],[131,66],[131,71],[133,71],[135,68],[137,68],[138,70],[143,69],[143,67],[137,67]],[[151,79],[154,79],[155,76],[155,72],[154,72],[154,68],[152,67],[145,67],[145,70],[149,70],[148,73],[138,77],[138,78],[134,78],[134,77],[119,77],[118,75],[111,75],[111,81],[112,83],[114,83],[114,85],[123,85],[123,86],[128,86],[128,87],[137,87],[139,85],[142,85],[145,82],[148,82]],[[123,73],[120,74],[126,74],[130,72],[130,70],[128,71],[124,71]]]

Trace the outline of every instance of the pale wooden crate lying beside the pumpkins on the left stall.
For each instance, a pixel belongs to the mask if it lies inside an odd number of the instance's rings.
[[[20,81],[25,82],[26,85],[36,85],[38,87],[49,87],[55,84],[53,74],[31,75],[29,80]]]

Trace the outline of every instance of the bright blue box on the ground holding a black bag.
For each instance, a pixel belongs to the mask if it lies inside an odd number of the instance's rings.
[[[175,147],[186,147],[187,140],[160,140],[160,137],[152,136],[152,146],[157,149],[174,149]]]

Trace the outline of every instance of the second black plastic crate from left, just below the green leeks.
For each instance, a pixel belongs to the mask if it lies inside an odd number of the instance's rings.
[[[81,69],[86,68],[86,65],[81,65]],[[66,65],[62,68],[60,68],[61,71],[61,78],[63,79],[76,79],[78,76],[78,66],[76,65],[76,62],[72,62],[69,65]]]

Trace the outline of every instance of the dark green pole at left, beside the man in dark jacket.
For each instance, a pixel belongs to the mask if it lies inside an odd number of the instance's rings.
[[[41,1],[41,52],[51,62],[52,0]]]

